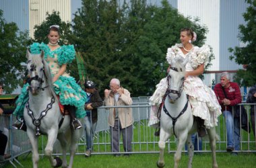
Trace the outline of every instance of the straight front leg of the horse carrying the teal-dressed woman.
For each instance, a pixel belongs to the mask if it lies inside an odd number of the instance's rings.
[[[30,143],[32,145],[32,161],[33,167],[38,167],[39,155],[38,155],[38,138],[36,137],[34,130],[31,128],[27,128],[28,138],[30,139]]]

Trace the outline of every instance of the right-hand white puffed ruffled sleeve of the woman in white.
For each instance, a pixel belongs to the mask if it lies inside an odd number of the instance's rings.
[[[193,69],[197,69],[197,67],[203,63],[204,66],[206,66],[209,62],[210,54],[211,50],[207,45],[203,45],[201,48],[198,48],[195,52],[191,53],[191,66]]]

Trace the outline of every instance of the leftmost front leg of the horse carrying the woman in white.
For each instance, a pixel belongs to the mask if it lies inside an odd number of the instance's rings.
[[[165,131],[164,129],[160,129],[160,140],[158,142],[160,154],[159,159],[156,165],[158,167],[164,167],[164,149],[166,140],[170,137],[170,130]]]

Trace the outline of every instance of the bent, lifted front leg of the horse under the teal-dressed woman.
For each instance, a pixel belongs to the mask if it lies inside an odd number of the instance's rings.
[[[58,163],[57,159],[53,158],[53,144],[55,143],[55,140],[57,138],[58,134],[58,126],[57,128],[51,128],[51,130],[48,131],[48,140],[46,147],[44,149],[44,154],[46,157],[48,157],[49,161],[51,162],[52,167],[59,167],[61,163]],[[58,164],[58,165],[57,165]]]

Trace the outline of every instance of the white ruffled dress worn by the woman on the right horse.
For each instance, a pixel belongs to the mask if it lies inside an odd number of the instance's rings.
[[[193,50],[187,54],[183,54],[181,50],[182,47],[183,44],[176,44],[168,48],[166,60],[170,65],[173,63],[172,60],[186,58],[187,56],[189,57],[189,61],[185,67],[186,71],[193,71],[203,63],[207,65],[210,56],[209,46],[204,45],[201,48],[194,46]],[[148,123],[149,126],[158,126],[159,119],[157,117],[157,111],[160,103],[162,103],[166,89],[167,81],[166,78],[164,78],[156,85],[156,91],[152,97],[150,97],[152,108],[150,112],[150,122]],[[189,95],[193,116],[202,118],[205,128],[217,126],[218,116],[220,116],[222,112],[214,91],[204,85],[199,77],[193,76],[189,76],[185,79],[184,91]]]

